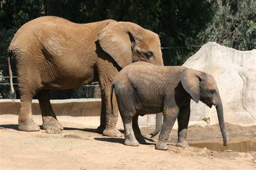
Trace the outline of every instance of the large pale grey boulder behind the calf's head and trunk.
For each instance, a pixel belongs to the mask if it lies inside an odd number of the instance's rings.
[[[223,101],[225,122],[240,125],[255,124],[256,118],[256,50],[238,51],[208,42],[183,66],[214,76]],[[191,101],[190,121],[210,118],[218,123],[215,107]]]

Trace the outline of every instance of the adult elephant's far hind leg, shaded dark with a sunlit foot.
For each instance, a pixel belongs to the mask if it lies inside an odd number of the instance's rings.
[[[59,129],[63,130],[63,126],[58,122],[57,117],[52,110],[50,103],[49,90],[41,90],[37,94],[40,109],[43,118],[43,129]]]

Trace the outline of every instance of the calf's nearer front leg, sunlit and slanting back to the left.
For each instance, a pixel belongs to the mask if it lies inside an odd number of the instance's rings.
[[[161,128],[159,139],[156,145],[157,150],[168,150],[168,146],[166,145],[166,141],[169,139],[172,127],[178,117],[179,108],[171,107],[165,108],[164,110],[164,122]]]

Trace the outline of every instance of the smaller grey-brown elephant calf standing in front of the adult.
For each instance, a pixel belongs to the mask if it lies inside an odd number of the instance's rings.
[[[226,146],[223,105],[213,76],[182,66],[157,66],[136,62],[122,69],[112,83],[118,108],[123,119],[125,145],[144,143],[138,126],[138,116],[163,112],[164,122],[156,145],[168,150],[173,124],[178,118],[177,146],[188,146],[187,126],[190,119],[190,100],[214,105]],[[139,141],[139,142],[138,142]]]

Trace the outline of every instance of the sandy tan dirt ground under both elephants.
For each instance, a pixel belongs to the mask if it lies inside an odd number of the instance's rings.
[[[157,138],[149,138],[152,128],[142,129],[147,144],[125,146],[124,136],[105,137],[84,124],[60,122],[64,130],[49,134],[45,130],[17,130],[17,117],[0,119],[0,169],[254,169],[256,152],[220,152],[207,148],[176,147],[177,130],[172,130],[169,150],[154,149]],[[252,141],[255,148],[256,126],[226,123],[228,145]],[[188,143],[222,145],[218,125],[188,128]],[[210,144],[211,145],[211,144]],[[227,146],[227,148],[229,148]]]

